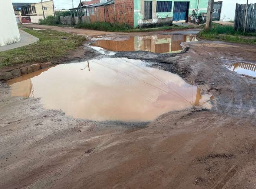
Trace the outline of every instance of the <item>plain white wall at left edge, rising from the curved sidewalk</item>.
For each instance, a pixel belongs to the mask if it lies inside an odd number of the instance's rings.
[[[20,32],[14,15],[12,1],[1,0],[0,46],[20,41]]]

